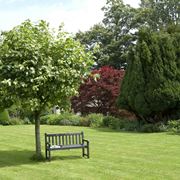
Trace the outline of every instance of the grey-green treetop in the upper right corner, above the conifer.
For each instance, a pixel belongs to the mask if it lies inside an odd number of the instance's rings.
[[[180,23],[179,0],[141,0],[139,20],[154,30]]]

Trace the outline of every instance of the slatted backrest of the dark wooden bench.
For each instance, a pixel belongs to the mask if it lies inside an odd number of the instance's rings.
[[[45,143],[51,145],[73,145],[83,144],[84,133],[62,133],[47,134],[45,133]]]

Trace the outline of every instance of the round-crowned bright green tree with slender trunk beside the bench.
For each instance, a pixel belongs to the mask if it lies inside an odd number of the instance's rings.
[[[61,30],[51,31],[44,21],[28,20],[2,34],[0,87],[11,104],[20,101],[33,111],[37,158],[41,157],[41,112],[75,95],[91,65],[91,53]],[[8,102],[3,98],[1,105],[10,106]]]

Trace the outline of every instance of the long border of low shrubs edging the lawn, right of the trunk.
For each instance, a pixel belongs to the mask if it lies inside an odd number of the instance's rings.
[[[168,125],[164,123],[145,123],[138,120],[126,120],[113,116],[103,116],[103,114],[89,114],[81,117],[73,113],[49,114],[41,116],[41,124],[49,125],[63,125],[63,126],[87,126],[87,127],[109,127],[122,131],[136,131],[136,132],[164,132],[174,131],[180,132],[180,120],[170,121]]]

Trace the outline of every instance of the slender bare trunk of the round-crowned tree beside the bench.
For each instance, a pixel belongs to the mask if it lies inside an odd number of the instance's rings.
[[[41,154],[41,140],[40,140],[40,112],[35,112],[35,142],[36,142],[36,157],[40,159]]]

